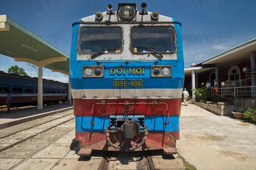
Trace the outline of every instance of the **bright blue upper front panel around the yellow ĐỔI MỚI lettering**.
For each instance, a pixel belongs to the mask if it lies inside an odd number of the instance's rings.
[[[180,89],[183,88],[184,80],[184,61],[183,61],[183,47],[181,40],[180,24],[174,24],[176,33],[176,49],[177,60],[158,60],[154,62],[140,62],[140,60],[133,60],[133,62],[101,62],[99,66],[104,66],[105,75],[104,78],[83,78],[82,67],[83,66],[97,66],[97,60],[77,60],[77,46],[79,39],[79,24],[73,25],[72,46],[70,54],[70,82],[72,89],[112,89],[113,79],[142,79],[143,88],[151,89]],[[170,65],[172,66],[172,77],[166,78],[152,78],[150,76],[152,65]],[[118,66],[122,66],[125,69],[126,74],[110,74],[110,69],[117,69]],[[143,68],[144,75],[140,74],[128,74],[128,69]]]

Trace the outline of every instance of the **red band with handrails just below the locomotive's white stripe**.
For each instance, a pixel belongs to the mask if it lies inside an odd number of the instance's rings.
[[[109,115],[123,115],[122,109],[125,108],[125,101],[129,101],[129,106],[134,106],[134,109],[126,112],[128,115],[145,115],[145,116],[178,116],[180,115],[181,98],[174,99],[160,99],[157,102],[162,104],[140,104],[151,103],[153,99],[110,99],[106,101],[106,104],[101,103],[102,100],[73,98],[74,115],[75,116],[90,116],[93,110],[93,116],[109,116]],[[112,103],[112,104],[111,104]],[[119,104],[113,104],[119,103]],[[165,103],[165,104],[163,104]],[[93,107],[94,105],[94,107]],[[168,110],[167,110],[168,109]]]

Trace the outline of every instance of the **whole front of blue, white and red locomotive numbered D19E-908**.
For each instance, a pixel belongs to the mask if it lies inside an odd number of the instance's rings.
[[[181,24],[141,4],[73,23],[70,82],[79,155],[163,149],[174,154],[184,64]]]

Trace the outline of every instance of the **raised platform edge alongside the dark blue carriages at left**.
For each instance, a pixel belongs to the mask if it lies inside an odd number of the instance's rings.
[[[37,107],[30,107],[26,109],[11,110],[11,113],[2,111],[0,112],[0,129],[11,127],[27,121],[32,121],[38,118],[43,118],[49,115],[54,115],[59,112],[65,112],[71,109],[73,109],[73,105],[65,103],[47,105],[41,110],[38,110]]]

